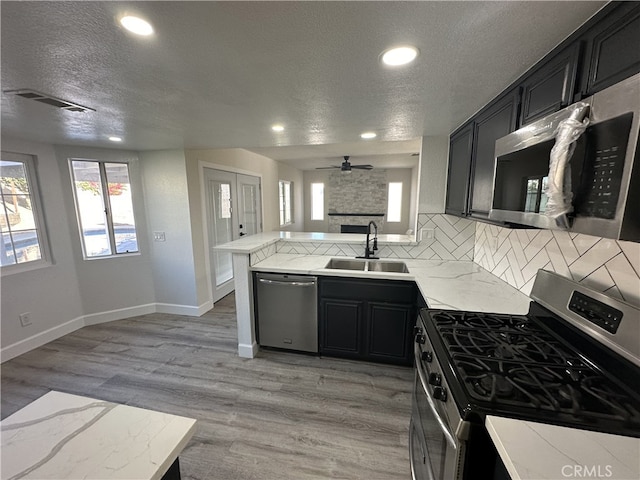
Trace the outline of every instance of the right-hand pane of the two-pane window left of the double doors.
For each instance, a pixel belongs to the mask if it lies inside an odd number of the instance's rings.
[[[129,168],[125,163],[105,163],[107,190],[111,204],[116,253],[138,251],[136,222],[133,218]]]

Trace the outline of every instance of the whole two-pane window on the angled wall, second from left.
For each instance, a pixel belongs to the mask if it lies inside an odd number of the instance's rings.
[[[71,159],[85,258],[138,252],[129,166]]]

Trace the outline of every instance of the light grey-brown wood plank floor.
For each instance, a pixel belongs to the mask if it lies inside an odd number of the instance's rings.
[[[1,366],[2,418],[49,390],[198,419],[183,479],[410,478],[413,371],[236,354],[233,295],[200,318],[82,328]]]

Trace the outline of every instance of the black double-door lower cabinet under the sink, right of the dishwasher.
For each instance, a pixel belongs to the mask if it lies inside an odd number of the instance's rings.
[[[412,364],[415,283],[322,277],[319,287],[322,355]]]

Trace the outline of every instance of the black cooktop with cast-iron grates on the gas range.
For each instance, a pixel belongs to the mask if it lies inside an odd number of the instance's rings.
[[[640,437],[638,372],[576,350],[576,333],[552,330],[542,314],[423,312],[461,410]]]

